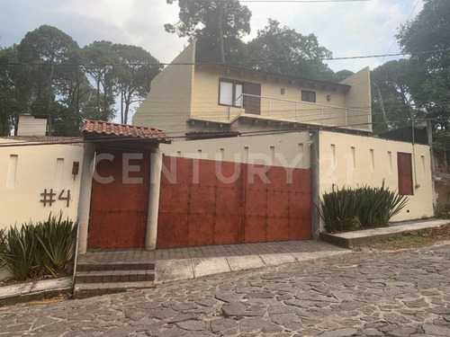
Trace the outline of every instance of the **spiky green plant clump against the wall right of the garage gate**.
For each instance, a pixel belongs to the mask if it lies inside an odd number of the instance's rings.
[[[385,226],[406,206],[408,197],[384,187],[367,185],[324,193],[320,217],[329,232]]]

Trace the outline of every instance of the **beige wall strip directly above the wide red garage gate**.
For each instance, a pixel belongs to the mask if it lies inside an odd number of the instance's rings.
[[[310,168],[308,132],[281,135],[230,137],[161,144],[165,155],[234,163]]]

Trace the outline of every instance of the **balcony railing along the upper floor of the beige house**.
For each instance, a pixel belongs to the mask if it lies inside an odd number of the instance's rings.
[[[243,97],[243,100],[241,100]],[[371,113],[367,110],[319,104],[313,102],[291,101],[280,98],[257,96],[243,93],[236,102],[241,107],[229,107],[229,120],[239,116],[260,116],[270,120],[299,122],[323,126],[352,129],[371,129]]]

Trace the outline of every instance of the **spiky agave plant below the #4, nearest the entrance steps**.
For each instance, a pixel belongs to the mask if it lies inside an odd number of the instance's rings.
[[[70,262],[75,253],[76,225],[68,217],[63,219],[62,212],[58,217],[49,215],[47,221],[39,224],[37,239],[40,249],[47,253],[43,260],[45,268],[60,270]]]

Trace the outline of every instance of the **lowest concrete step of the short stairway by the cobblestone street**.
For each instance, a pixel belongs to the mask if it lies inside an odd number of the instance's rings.
[[[153,282],[80,283],[76,284],[74,288],[74,297],[93,297],[145,288],[155,288],[155,284]]]

